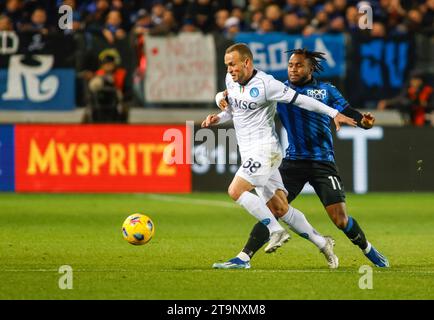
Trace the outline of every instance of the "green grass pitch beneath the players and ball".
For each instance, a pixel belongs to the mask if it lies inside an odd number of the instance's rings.
[[[359,288],[361,251],[334,227],[318,198],[294,206],[336,240],[338,270],[306,240],[259,252],[250,270],[213,270],[236,255],[255,223],[223,193],[0,194],[0,299],[433,299],[434,194],[347,197],[349,213],[390,260],[374,268],[373,288]],[[121,225],[149,215],[154,238],[132,246]],[[59,267],[73,269],[73,289],[59,289]]]

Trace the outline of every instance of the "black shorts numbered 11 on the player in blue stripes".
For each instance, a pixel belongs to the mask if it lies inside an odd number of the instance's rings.
[[[315,189],[324,207],[345,202],[344,184],[333,162],[283,159],[279,171],[288,190],[289,203],[299,195],[306,182]]]

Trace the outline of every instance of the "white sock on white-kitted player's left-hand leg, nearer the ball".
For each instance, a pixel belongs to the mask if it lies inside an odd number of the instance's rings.
[[[277,222],[270,209],[261,198],[251,192],[245,191],[238,198],[237,203],[246,209],[252,216],[267,226],[270,234],[275,231],[284,230]]]

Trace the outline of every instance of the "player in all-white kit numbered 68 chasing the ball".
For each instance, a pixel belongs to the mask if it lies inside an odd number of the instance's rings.
[[[229,196],[267,226],[270,232],[270,240],[265,248],[267,253],[274,252],[290,238],[272,213],[275,207],[285,210],[281,219],[290,227],[298,228],[299,234],[308,234],[311,241],[315,237],[322,237],[300,211],[289,206],[286,199],[287,191],[278,170],[282,149],[274,128],[277,102],[293,103],[310,111],[327,114],[334,118],[337,130],[340,123],[356,126],[356,122],[313,98],[297,94],[271,75],[256,70],[253,54],[246,44],[230,46],[224,59],[227,66],[227,97],[224,92],[218,93],[216,103],[227,98],[229,106],[218,115],[208,115],[202,127],[221,124],[230,119],[234,122],[242,166],[229,186]],[[251,193],[253,189],[258,196]],[[337,267],[331,239],[327,239],[326,247],[322,252]],[[247,254],[240,252],[236,258],[214,264],[213,267],[248,269],[249,260]]]

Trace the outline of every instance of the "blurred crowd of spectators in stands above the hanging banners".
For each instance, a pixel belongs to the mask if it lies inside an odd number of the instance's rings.
[[[0,31],[54,31],[63,4],[73,9],[74,30],[102,33],[108,41],[130,31],[359,32],[359,9],[366,4],[373,36],[432,35],[434,21],[434,0],[6,0],[0,4]]]

